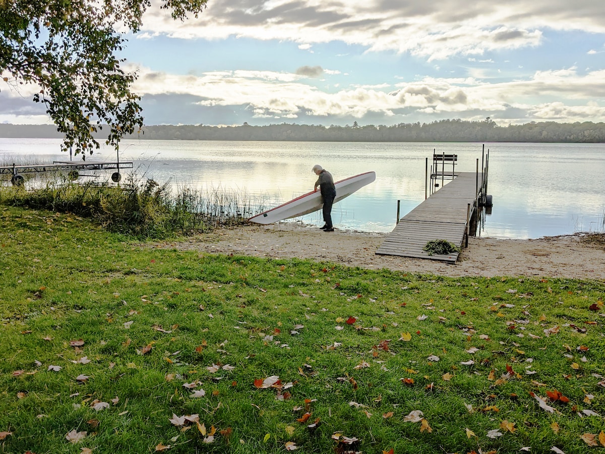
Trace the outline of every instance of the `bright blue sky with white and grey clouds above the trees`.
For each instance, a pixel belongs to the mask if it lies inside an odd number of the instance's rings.
[[[605,121],[598,0],[152,1],[127,38],[146,125]],[[0,122],[49,120],[0,87]]]

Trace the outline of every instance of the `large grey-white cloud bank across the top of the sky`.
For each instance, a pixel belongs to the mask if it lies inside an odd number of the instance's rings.
[[[143,17],[141,38],[229,36],[311,45],[341,41],[370,51],[410,53],[428,61],[453,54],[539,45],[545,30],[605,33],[605,7],[594,0],[226,0],[198,19],[173,21],[157,5]]]

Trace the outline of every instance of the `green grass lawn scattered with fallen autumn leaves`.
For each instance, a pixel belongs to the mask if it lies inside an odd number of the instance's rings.
[[[601,281],[0,232],[0,452],[605,452]]]

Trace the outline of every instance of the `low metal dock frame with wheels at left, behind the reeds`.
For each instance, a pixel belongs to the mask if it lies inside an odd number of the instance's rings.
[[[67,176],[70,180],[77,180],[80,176],[80,170],[113,170],[116,171],[111,174],[111,181],[119,183],[122,180],[122,174],[120,174],[120,168],[131,169],[132,161],[126,162],[66,162],[66,161],[53,161],[52,164],[33,164],[33,165],[13,165],[0,167],[0,175],[10,174],[10,182],[13,186],[22,186],[25,183],[25,178],[22,176],[24,173],[41,173],[41,172],[56,172],[62,171],[67,172]]]

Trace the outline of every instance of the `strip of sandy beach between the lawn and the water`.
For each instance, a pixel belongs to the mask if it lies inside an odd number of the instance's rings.
[[[469,238],[456,263],[376,255],[387,234],[281,222],[246,225],[195,235],[159,247],[255,257],[299,257],[368,269],[388,268],[443,276],[535,276],[605,280],[605,234],[574,234],[535,240]]]

